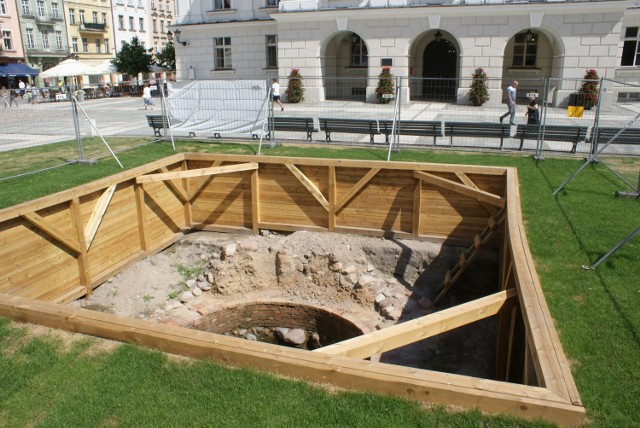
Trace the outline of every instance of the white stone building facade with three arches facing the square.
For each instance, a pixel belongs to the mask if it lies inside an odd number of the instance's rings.
[[[514,79],[558,79],[556,103],[575,90],[562,79],[587,69],[640,81],[639,28],[628,0],[178,0],[172,27],[187,42],[176,46],[179,79],[283,77],[297,68],[307,100],[330,99],[337,87],[374,102],[382,66],[410,82],[404,100],[433,95],[428,79],[483,68],[501,81],[494,91]],[[452,85],[437,90],[465,102],[468,89]]]

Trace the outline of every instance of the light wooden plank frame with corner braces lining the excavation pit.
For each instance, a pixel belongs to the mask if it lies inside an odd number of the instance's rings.
[[[446,293],[484,245],[500,291],[316,351],[74,309],[110,276],[189,230],[334,231],[466,245]],[[177,154],[0,211],[0,316],[311,381],[417,400],[584,421],[535,272],[511,168]],[[495,316],[497,380],[365,358]]]

